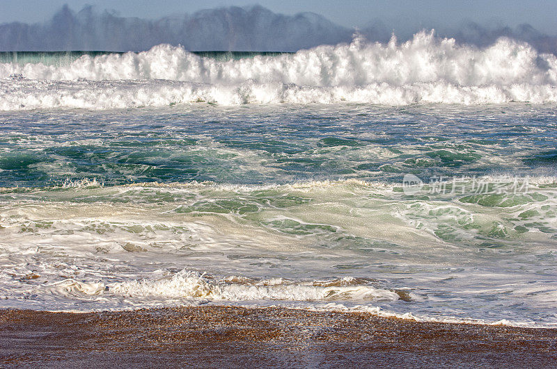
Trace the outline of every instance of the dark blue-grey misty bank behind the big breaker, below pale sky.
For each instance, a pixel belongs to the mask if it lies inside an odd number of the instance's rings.
[[[64,6],[44,24],[0,24],[0,51],[146,51],[157,44],[180,44],[191,51],[297,51],[350,42],[354,31],[314,13],[281,15],[262,6],[216,8],[154,20],[119,17],[91,6],[76,13]],[[400,41],[406,41],[421,29],[394,31]],[[557,51],[557,37],[528,24],[510,28],[469,22],[452,29],[437,27],[437,31],[440,37],[478,47],[507,37],[528,42],[540,52]],[[389,42],[393,26],[375,19],[359,32],[370,41]]]

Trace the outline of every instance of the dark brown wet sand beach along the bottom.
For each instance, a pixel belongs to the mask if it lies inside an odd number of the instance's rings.
[[[201,306],[0,310],[0,366],[557,366],[557,329]]]

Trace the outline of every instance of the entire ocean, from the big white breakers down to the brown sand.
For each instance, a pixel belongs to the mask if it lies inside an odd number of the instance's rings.
[[[0,307],[557,327],[557,57],[1,53]]]

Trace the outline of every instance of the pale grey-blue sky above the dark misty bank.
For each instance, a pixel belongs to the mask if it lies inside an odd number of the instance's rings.
[[[42,22],[65,3],[73,10],[91,4],[97,10],[113,9],[125,17],[142,18],[259,3],[275,13],[318,13],[343,26],[365,26],[381,19],[393,28],[428,28],[457,26],[471,20],[508,26],[529,23],[544,33],[557,35],[557,0],[0,0],[0,23]]]

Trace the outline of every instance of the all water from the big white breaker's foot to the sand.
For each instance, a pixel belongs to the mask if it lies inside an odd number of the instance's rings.
[[[1,301],[551,326],[556,126],[525,104],[0,113]]]

